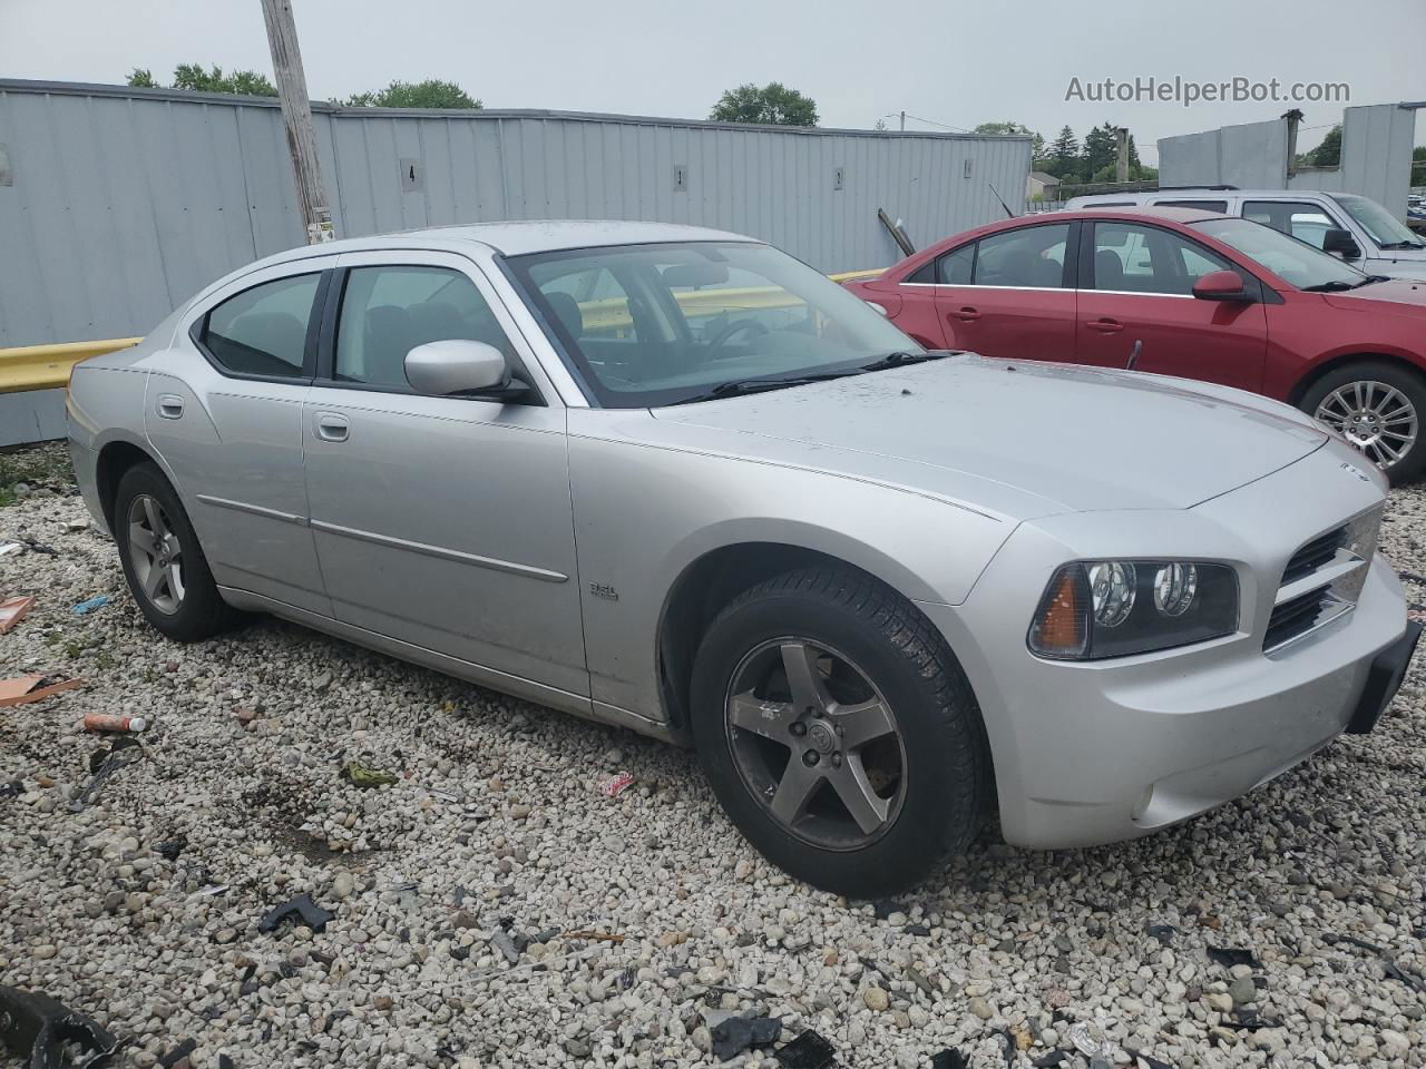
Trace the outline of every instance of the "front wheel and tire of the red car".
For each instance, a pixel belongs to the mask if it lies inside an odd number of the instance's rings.
[[[1400,486],[1426,469],[1426,378],[1387,361],[1356,361],[1328,372],[1299,408],[1346,435]],[[1397,459],[1392,455],[1397,453]]]

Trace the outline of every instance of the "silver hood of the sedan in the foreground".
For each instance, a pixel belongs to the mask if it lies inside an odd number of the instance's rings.
[[[652,415],[687,430],[683,448],[886,482],[1018,519],[1186,509],[1326,442],[1295,409],[1235,389],[970,353]]]

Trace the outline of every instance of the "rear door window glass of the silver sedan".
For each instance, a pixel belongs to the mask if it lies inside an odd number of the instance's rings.
[[[202,318],[198,344],[235,375],[311,378],[308,334],[321,279],[321,272],[292,275],[230,296]]]

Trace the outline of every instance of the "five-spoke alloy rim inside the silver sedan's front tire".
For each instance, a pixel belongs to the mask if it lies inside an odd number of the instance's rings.
[[[896,821],[906,747],[890,704],[848,657],[807,639],[747,653],[726,700],[733,763],[777,824],[824,849],[860,849]]]

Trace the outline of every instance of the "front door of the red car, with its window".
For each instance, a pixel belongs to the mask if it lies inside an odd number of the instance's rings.
[[[1199,301],[1194,282],[1238,271],[1216,252],[1144,222],[1085,224],[1079,261],[1079,363],[1181,375],[1261,391],[1268,319],[1261,302]]]

